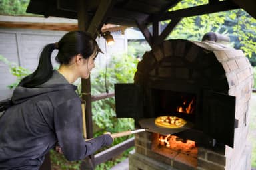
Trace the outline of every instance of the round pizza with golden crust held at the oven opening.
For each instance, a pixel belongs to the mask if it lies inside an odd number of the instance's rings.
[[[155,119],[155,124],[163,128],[181,128],[187,123],[177,116],[160,116]]]

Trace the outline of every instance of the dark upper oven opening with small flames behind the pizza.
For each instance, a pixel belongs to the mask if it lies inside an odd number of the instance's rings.
[[[196,94],[152,90],[156,116],[177,116],[194,122],[196,114]]]

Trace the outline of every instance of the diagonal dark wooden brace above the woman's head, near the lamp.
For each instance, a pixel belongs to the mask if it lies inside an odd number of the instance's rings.
[[[95,15],[93,16],[93,19],[91,20],[87,29],[87,31],[91,33],[93,37],[97,37],[97,31],[99,31],[103,26],[103,23],[114,4],[115,0],[101,0],[99,3],[99,7],[97,8],[97,11],[95,12]]]

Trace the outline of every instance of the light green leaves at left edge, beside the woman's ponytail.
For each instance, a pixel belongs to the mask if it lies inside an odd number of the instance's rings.
[[[1,55],[0,55],[0,61],[5,63],[9,67],[9,71],[11,72],[11,74],[13,74],[13,76],[17,77],[16,82],[8,86],[10,89],[15,88],[23,77],[31,73],[30,70],[23,68],[21,66],[17,66],[17,64],[15,64],[14,62],[10,62],[9,60],[7,60],[7,58]]]

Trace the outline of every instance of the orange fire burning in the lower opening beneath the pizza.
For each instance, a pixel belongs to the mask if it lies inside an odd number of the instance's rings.
[[[175,150],[189,151],[196,147],[195,141],[180,139],[175,135],[159,135],[159,144]]]

